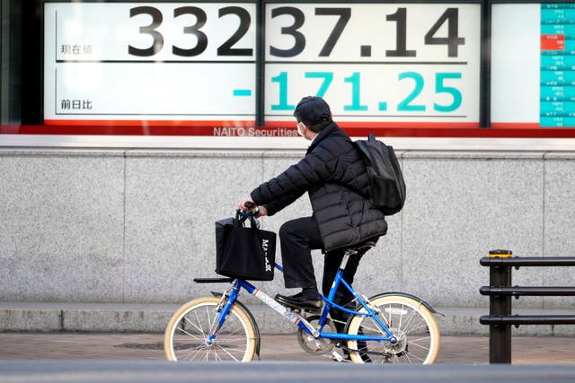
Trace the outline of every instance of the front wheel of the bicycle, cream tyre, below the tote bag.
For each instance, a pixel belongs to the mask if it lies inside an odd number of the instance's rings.
[[[181,306],[165,329],[164,352],[169,361],[252,361],[256,335],[249,315],[234,305],[219,328],[216,339],[208,337],[217,323],[220,299],[202,297]]]

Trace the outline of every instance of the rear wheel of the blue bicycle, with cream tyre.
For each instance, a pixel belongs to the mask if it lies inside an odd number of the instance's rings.
[[[389,295],[371,301],[380,310],[380,318],[397,338],[396,344],[375,341],[348,341],[356,363],[433,363],[439,352],[439,329],[433,315],[419,301]],[[366,309],[360,309],[366,312]],[[385,335],[374,318],[356,315],[349,321],[349,335]]]

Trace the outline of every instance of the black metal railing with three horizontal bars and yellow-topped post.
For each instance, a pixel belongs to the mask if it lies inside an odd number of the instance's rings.
[[[575,257],[513,257],[509,250],[490,251],[480,261],[489,266],[489,286],[479,289],[489,295],[489,315],[479,318],[489,325],[489,362],[511,363],[511,326],[575,325],[575,315],[512,315],[511,298],[521,296],[575,296],[575,287],[511,286],[511,269],[520,266],[575,266]]]

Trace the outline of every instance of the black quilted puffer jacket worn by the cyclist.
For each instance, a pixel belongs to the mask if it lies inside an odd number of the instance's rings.
[[[315,137],[304,159],[256,187],[251,196],[273,215],[306,191],[325,251],[349,247],[387,231],[384,213],[369,201],[366,167],[349,136],[335,123]]]

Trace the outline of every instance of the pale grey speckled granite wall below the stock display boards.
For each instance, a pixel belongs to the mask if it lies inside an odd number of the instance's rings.
[[[479,259],[575,256],[575,152],[416,152],[401,156],[402,213],[364,257],[356,286],[438,307],[486,307]],[[214,222],[301,151],[0,149],[0,300],[155,303],[208,294]],[[262,220],[311,208],[305,195]],[[279,256],[279,247],[278,247]],[[314,254],[321,279],[322,255]],[[280,257],[279,257],[280,259]],[[521,268],[520,285],[570,285],[573,269]],[[221,288],[220,288],[221,290]],[[261,290],[289,292],[279,274]],[[574,309],[572,298],[514,307]]]

